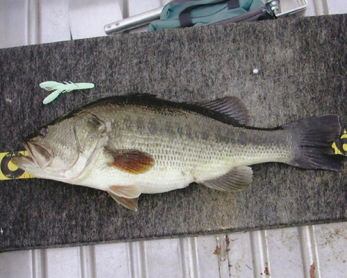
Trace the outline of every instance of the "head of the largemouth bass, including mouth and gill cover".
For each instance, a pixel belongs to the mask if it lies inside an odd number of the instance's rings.
[[[29,156],[13,157],[12,162],[36,177],[72,183],[95,155],[96,146],[101,148],[103,131],[90,115],[53,121],[24,139]]]

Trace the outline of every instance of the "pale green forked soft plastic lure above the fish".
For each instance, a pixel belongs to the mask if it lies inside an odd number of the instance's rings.
[[[74,83],[74,82],[56,82],[56,81],[46,81],[40,83],[40,87],[46,89],[47,91],[53,91],[49,96],[44,98],[43,103],[48,104],[54,101],[60,94],[74,91],[75,89],[92,89],[94,88],[93,83]]]

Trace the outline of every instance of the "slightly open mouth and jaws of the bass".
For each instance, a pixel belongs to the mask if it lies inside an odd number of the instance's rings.
[[[28,168],[46,168],[53,160],[53,154],[49,148],[35,144],[32,141],[23,141],[23,146],[29,153],[29,156],[20,155],[12,157],[12,162],[19,168],[28,170]]]

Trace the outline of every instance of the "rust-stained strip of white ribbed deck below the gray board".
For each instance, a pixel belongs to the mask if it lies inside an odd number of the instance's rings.
[[[6,252],[0,254],[0,277],[344,277],[346,228],[334,223]]]

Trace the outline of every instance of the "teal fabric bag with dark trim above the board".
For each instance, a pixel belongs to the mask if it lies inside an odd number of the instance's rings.
[[[164,7],[148,31],[276,18],[261,0],[175,0]]]

